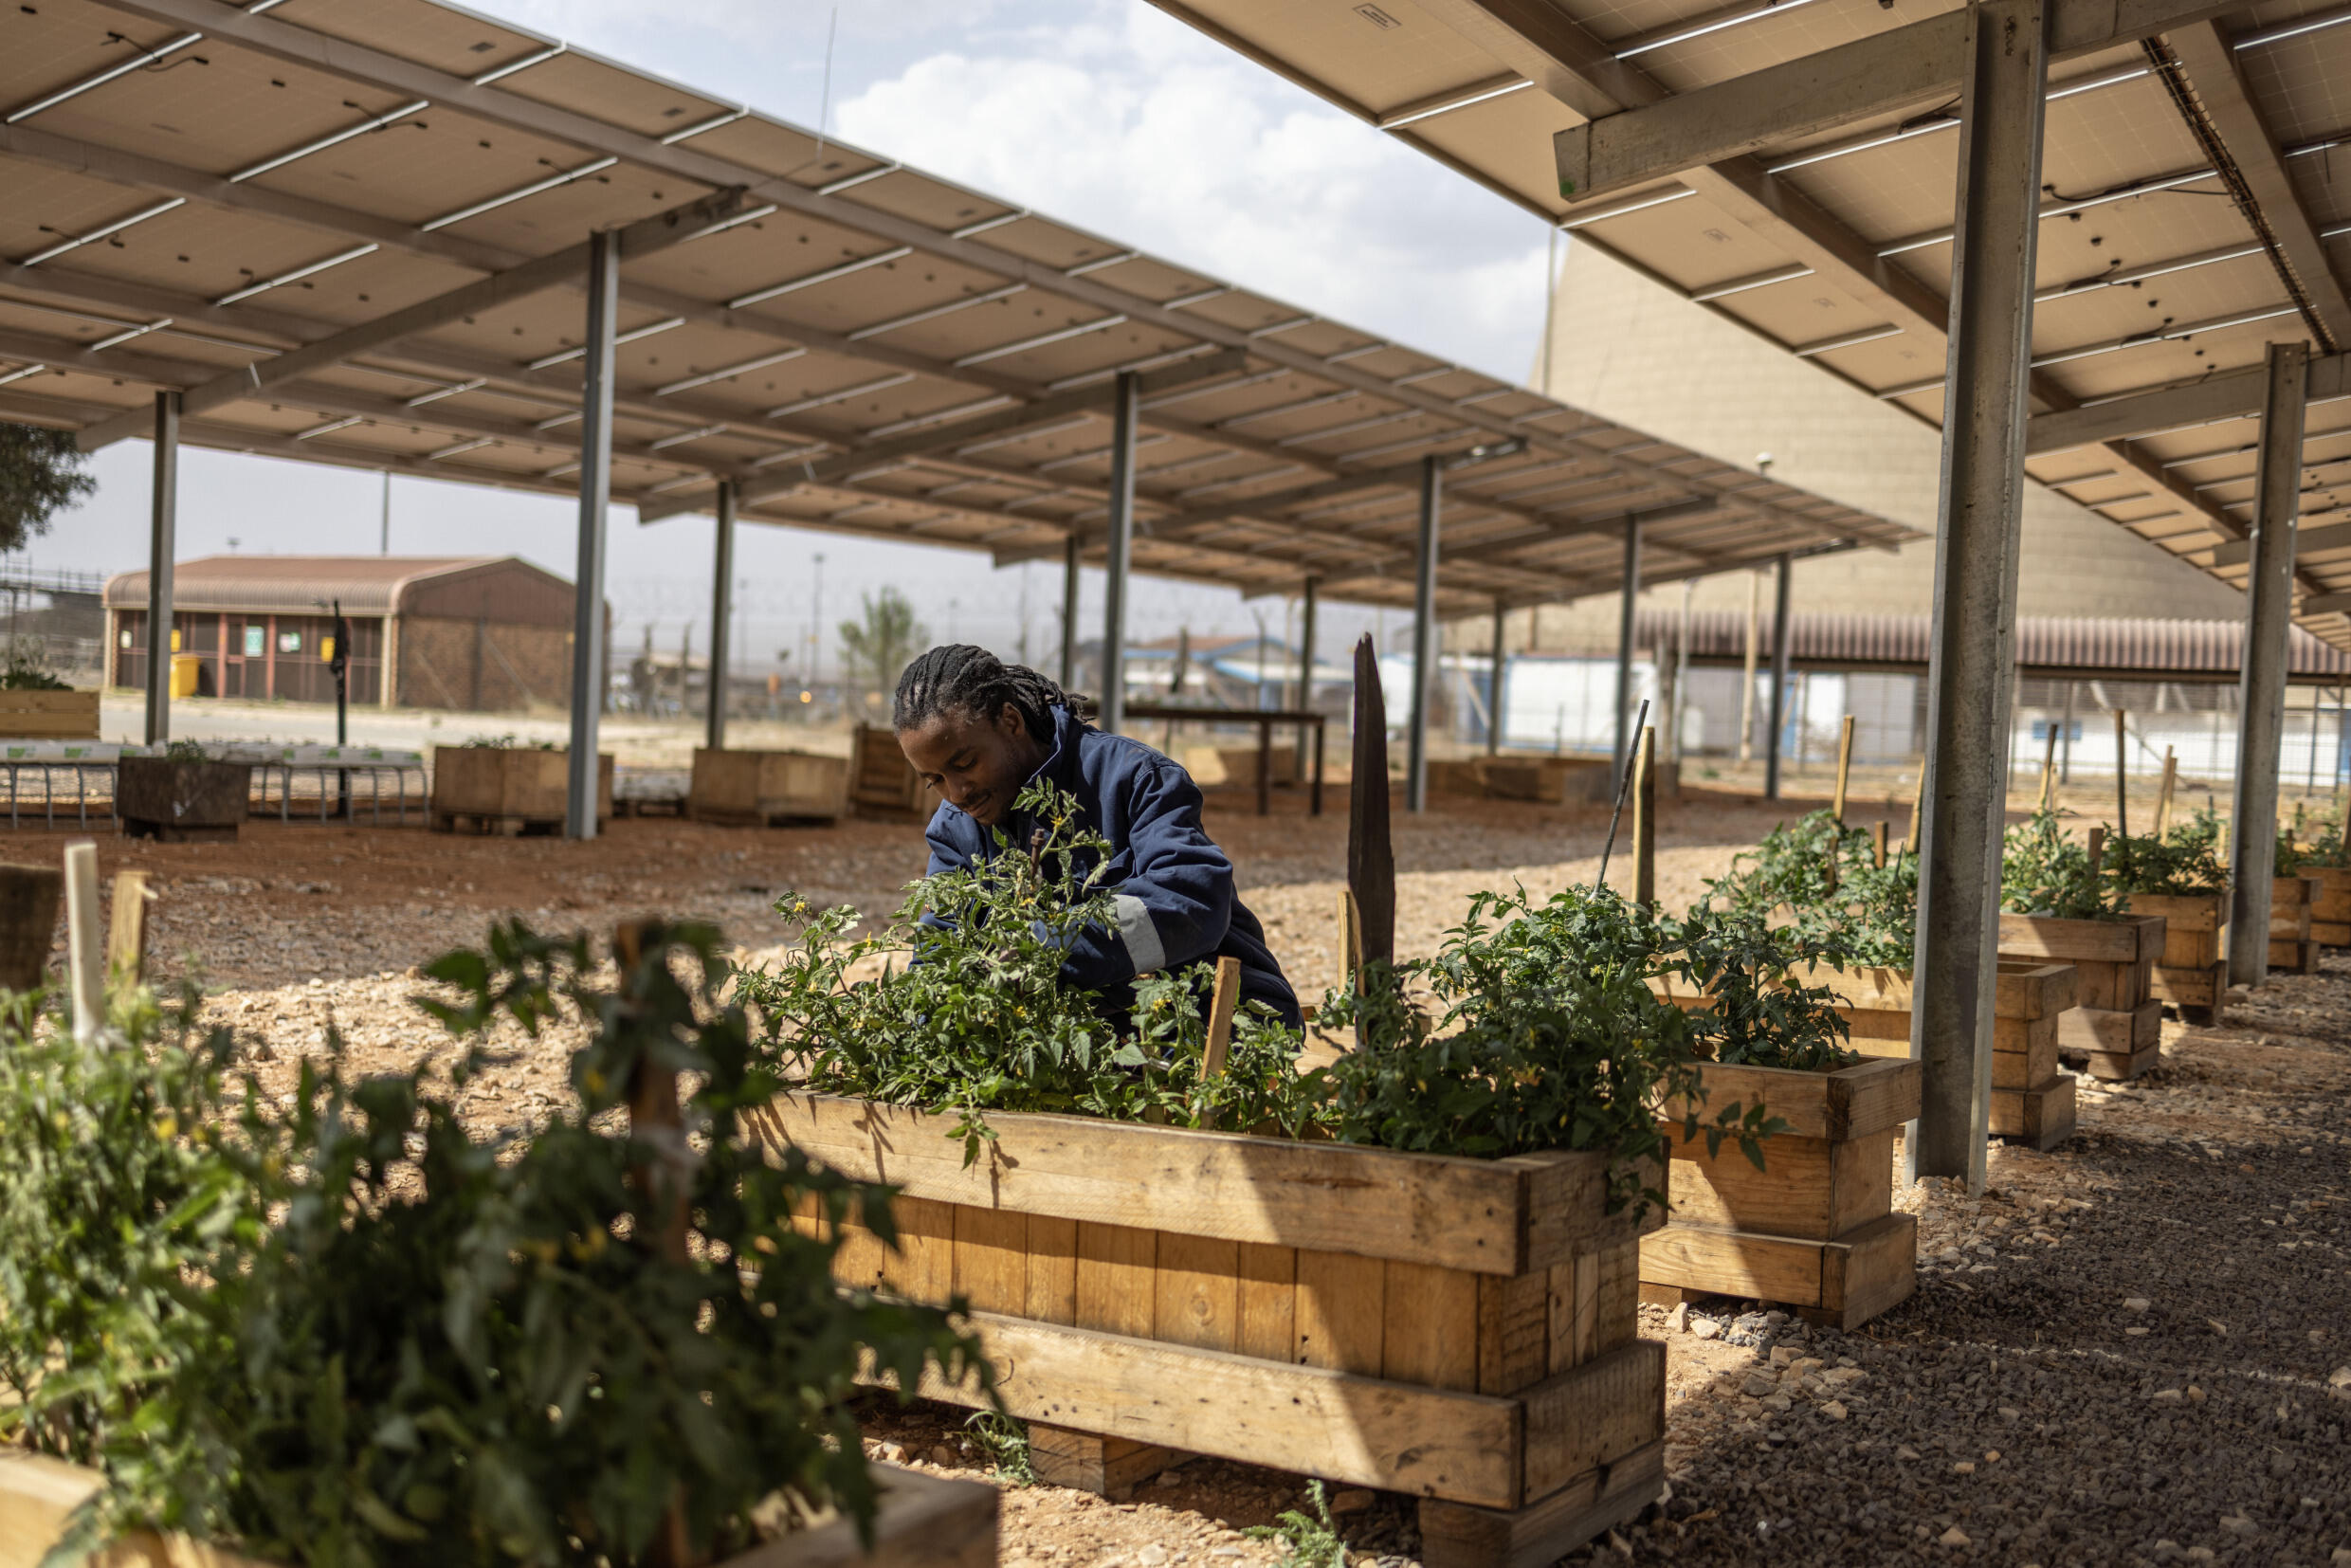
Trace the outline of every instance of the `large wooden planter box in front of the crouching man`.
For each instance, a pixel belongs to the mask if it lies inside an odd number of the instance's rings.
[[[987,1124],[966,1168],[952,1117],[785,1095],[757,1119],[900,1190],[900,1251],[849,1229],[837,1272],[966,1298],[1041,1476],[1119,1495],[1211,1453],[1408,1493],[1427,1568],[1552,1563],[1657,1497],[1665,1345],[1636,1307],[1665,1215],[1610,1218],[1599,1154]]]

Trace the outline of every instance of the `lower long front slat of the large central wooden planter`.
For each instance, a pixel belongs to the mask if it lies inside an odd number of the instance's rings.
[[[1004,1406],[1023,1418],[1326,1481],[1509,1509],[1523,1500],[1519,1399],[1422,1389],[1324,1366],[1154,1345],[976,1312]],[[969,1382],[924,1373],[922,1394],[983,1406]]]

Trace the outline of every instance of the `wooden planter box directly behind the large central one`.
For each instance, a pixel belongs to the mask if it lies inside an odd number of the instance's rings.
[[[1674,1218],[1641,1239],[1648,1300],[1740,1295],[1860,1328],[1918,1288],[1918,1220],[1895,1213],[1895,1131],[1918,1114],[1918,1063],[1836,1072],[1709,1065],[1702,1110],[1761,1103],[1787,1121],[1756,1171],[1737,1143],[1674,1143]]]

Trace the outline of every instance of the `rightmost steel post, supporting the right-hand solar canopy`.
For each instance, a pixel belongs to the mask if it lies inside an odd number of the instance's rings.
[[[2262,465],[2252,489],[2245,665],[2236,679],[2236,806],[2229,820],[2229,985],[2269,978],[2269,882],[2278,849],[2278,743],[2285,639],[2295,625],[2295,520],[2302,512],[2306,343],[2269,346]]]

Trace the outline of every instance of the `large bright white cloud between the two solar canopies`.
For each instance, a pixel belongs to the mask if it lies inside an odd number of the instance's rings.
[[[835,110],[868,148],[1519,378],[1540,223],[1138,2],[936,52]]]

